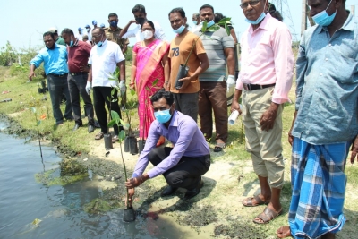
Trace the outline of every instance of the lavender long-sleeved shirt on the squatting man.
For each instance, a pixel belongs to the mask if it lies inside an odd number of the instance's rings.
[[[148,175],[150,178],[162,175],[168,169],[177,165],[183,156],[195,158],[210,154],[208,142],[205,140],[198,124],[191,116],[183,115],[175,110],[168,128],[166,128],[165,124],[160,124],[158,120],[150,124],[148,139],[143,151],[141,151],[140,158],[138,158],[132,177],[143,174],[149,163],[149,152],[151,149],[156,148],[161,135],[171,141],[174,144],[174,148],[168,157],[149,170]]]

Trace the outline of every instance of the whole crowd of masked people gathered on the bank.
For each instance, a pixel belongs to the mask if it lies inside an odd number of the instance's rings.
[[[225,18],[209,4],[192,14],[197,26],[192,30],[183,8],[172,9],[168,20],[176,36],[170,43],[158,21],[150,21],[141,4],[132,8],[134,19],[124,29],[117,26],[118,15],[110,13],[108,28],[92,21],[93,30],[90,25],[85,27],[87,34],[81,28],[78,34],[67,28],[60,36],[55,29],[44,33],[46,47],[30,62],[29,78],[44,63],[55,124],[62,125],[67,119],[74,120],[73,131],[82,126],[81,95],[88,132],[95,130],[96,115],[100,132],[95,139],[100,140],[108,131],[105,106],[121,115],[118,93],[125,105],[126,85],[136,90],[139,133],[146,143],[132,178],[125,183],[131,205],[134,189],[158,175],[168,184],[163,197],[178,188],[187,190],[184,199],[200,193],[202,175],[210,167],[207,141],[212,140],[213,124],[213,151],[226,147],[226,91],[235,85],[231,110],[243,114],[245,146],[260,182],[260,194],[244,199],[243,206],[267,205],[253,218],[257,224],[282,214],[282,111],[294,75],[292,38],[281,14],[268,0],[241,0],[239,5],[249,23],[241,39],[236,38],[232,26],[229,35],[223,28],[202,32],[202,22],[211,28]],[[309,0],[308,5],[317,24],[304,31],[295,63],[295,113],[288,133],[293,193],[289,226],[277,229],[280,238],[335,238],[345,224],[344,171],[349,148],[352,146],[351,163],[358,152],[358,20],[345,10],[345,0]],[[135,38],[136,43],[126,83],[128,38]],[[238,42],[241,71],[235,76]],[[118,81],[113,81],[117,67]],[[113,87],[120,92],[109,101]],[[67,98],[64,115],[60,109],[63,94]],[[114,126],[114,141],[121,130]],[[173,147],[158,147],[165,140]],[[149,162],[154,167],[145,172]]]

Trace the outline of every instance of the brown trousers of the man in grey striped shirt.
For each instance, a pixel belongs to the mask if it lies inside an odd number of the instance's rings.
[[[211,139],[213,132],[212,111],[215,116],[216,140],[227,140],[227,99],[226,81],[200,82],[199,115],[201,132]]]

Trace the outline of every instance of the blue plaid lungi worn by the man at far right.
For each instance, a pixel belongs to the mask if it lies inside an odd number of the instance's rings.
[[[294,238],[337,233],[345,224],[345,160],[352,141],[312,145],[294,138],[292,201],[288,214]]]

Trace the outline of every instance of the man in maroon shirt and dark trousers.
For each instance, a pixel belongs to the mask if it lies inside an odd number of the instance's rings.
[[[89,119],[88,131],[93,132],[95,121],[93,119],[93,105],[90,94],[86,92],[89,67],[87,66],[90,57],[90,45],[74,37],[71,29],[64,29],[61,33],[64,42],[67,44],[68,54],[68,88],[71,95],[73,109],[74,127],[73,131],[82,126],[80,94],[84,102],[84,112]]]

